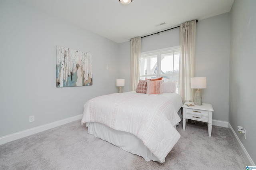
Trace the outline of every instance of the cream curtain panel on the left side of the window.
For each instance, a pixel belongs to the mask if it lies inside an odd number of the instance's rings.
[[[136,91],[140,80],[140,46],[141,37],[132,38],[131,44],[131,66],[130,66],[130,91]]]

